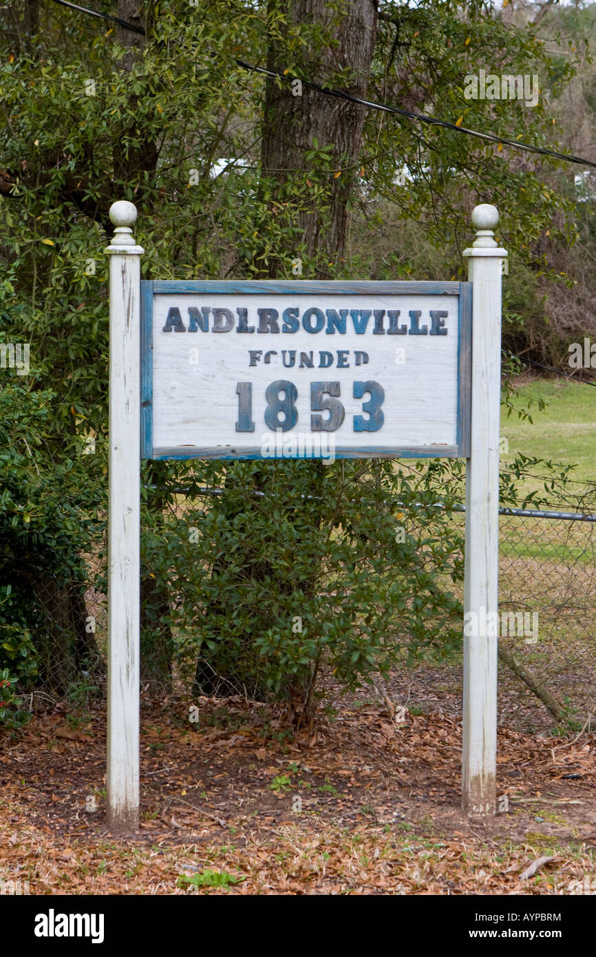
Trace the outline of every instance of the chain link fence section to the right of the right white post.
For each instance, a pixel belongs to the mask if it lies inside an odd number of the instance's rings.
[[[530,672],[558,721],[591,721],[593,728],[596,514],[567,511],[564,504],[500,515],[500,645]],[[519,684],[519,696],[527,693]]]

